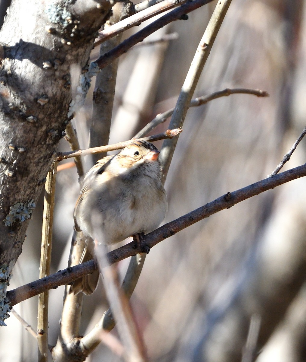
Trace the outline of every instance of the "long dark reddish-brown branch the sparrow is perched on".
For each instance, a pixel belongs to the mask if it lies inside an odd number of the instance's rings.
[[[194,223],[215,214],[218,211],[229,209],[233,205],[244,201],[250,197],[258,195],[276,186],[285,184],[286,182],[295,180],[300,177],[306,176],[306,164],[292,168],[288,171],[276,174],[272,177],[265,178],[264,180],[255,182],[252,185],[246,186],[242,189],[228,192],[220,196],[212,202],[207,203],[200,208],[189,212],[180,218],[167,223],[151,233],[144,236],[143,241],[148,244],[150,248],[158,244],[162,240],[174,235],[175,233],[183,230],[184,228],[193,225]],[[108,253],[109,263],[113,264],[123,260],[129,256],[135,255],[134,241]],[[35,282],[18,287],[14,290],[8,291],[6,296],[10,306],[14,306],[22,300],[31,298],[45,290],[56,288],[59,285],[65,285],[73,282],[75,279],[83,277],[84,275],[92,273],[95,269],[95,263],[87,261],[86,263],[79,264],[72,268],[58,271],[55,274],[49,275],[44,279],[39,279]]]

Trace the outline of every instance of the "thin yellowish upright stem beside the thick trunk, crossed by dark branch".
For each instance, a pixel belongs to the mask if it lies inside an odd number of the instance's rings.
[[[53,161],[45,184],[39,278],[45,278],[50,274],[56,168],[57,161]],[[40,362],[48,361],[48,301],[48,291],[38,296],[37,331]]]

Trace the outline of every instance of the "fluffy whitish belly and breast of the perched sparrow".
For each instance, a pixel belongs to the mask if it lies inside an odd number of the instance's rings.
[[[111,188],[105,182],[92,188],[87,199],[92,213],[82,212],[84,216],[78,220],[83,232],[93,239],[98,232],[105,244],[114,244],[137,233],[156,229],[167,211],[166,194],[156,187],[156,180],[145,177],[140,181],[145,187],[127,185],[118,180],[115,185],[112,182]],[[140,189],[145,192],[140,193]],[[100,198],[97,194],[101,195]]]

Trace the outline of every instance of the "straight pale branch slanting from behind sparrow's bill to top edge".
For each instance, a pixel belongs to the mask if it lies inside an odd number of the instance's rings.
[[[211,16],[203,37],[197,47],[197,51],[194,54],[191,66],[176,102],[175,110],[170,121],[170,128],[180,128],[183,126],[194,89],[196,88],[198,79],[202,73],[203,67],[210,54],[210,50],[214,44],[215,38],[217,37],[218,31],[230,4],[231,0],[220,0],[215,7],[213,15]],[[160,154],[163,182],[165,182],[177,142],[178,138],[172,141],[165,140],[163,142]]]

